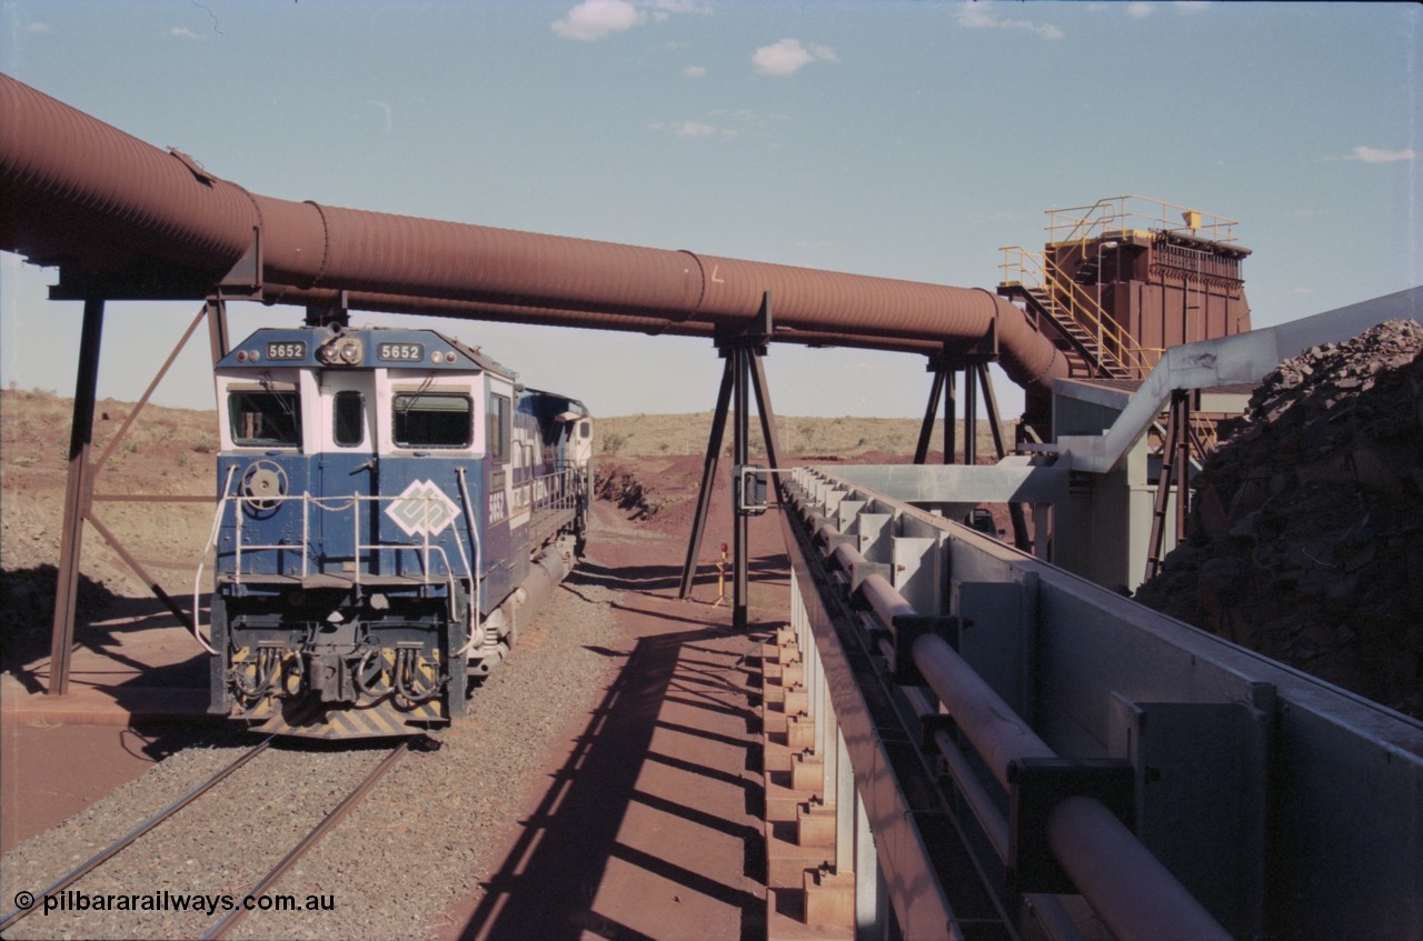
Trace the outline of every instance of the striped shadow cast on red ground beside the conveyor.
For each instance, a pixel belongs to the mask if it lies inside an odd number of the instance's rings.
[[[729,640],[734,642],[729,644]],[[739,908],[740,937],[764,937],[766,903],[747,887],[764,877],[766,851],[760,829],[667,797],[666,792],[652,793],[639,782],[653,765],[689,772],[710,782],[709,786],[723,789],[721,793],[730,793],[726,789],[739,790],[741,796],[736,803],[743,813],[760,812],[760,785],[754,776],[743,773],[758,770],[751,733],[758,731],[760,716],[748,704],[750,691],[741,665],[744,657],[736,655],[751,640],[746,634],[733,638],[726,630],[702,628],[643,637],[636,642],[568,760],[554,773],[538,809],[522,823],[524,832],[512,851],[485,884],[487,893],[467,923],[462,938],[538,937],[559,941],[585,934],[601,938],[649,937],[609,917],[610,907],[605,904],[601,888],[615,860],[675,884],[677,898],[686,894],[690,901],[692,894],[699,894]],[[680,721],[666,718],[672,708],[679,709]],[[687,721],[687,708],[703,711],[707,721]],[[723,731],[716,731],[719,724]],[[660,753],[653,748],[653,733],[659,729],[702,739],[733,753],[739,751],[740,768],[702,765],[689,760],[686,752]],[[623,822],[633,812],[630,805],[669,814],[679,830],[690,826],[709,843],[713,839],[724,841],[726,837],[739,840],[741,884],[726,884],[673,861],[677,849],[673,840],[649,843],[626,839]],[[649,844],[657,849],[649,851]],[[682,859],[686,859],[684,853]],[[640,880],[640,884],[646,883],[646,878]],[[628,904],[628,900],[622,903]],[[652,898],[645,900],[645,905],[638,907],[639,915],[652,920],[647,908],[655,904]],[[616,915],[616,911],[612,914]],[[696,925],[683,927],[697,931]]]

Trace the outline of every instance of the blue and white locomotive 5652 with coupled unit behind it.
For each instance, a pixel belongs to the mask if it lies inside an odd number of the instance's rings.
[[[582,550],[588,409],[431,330],[259,330],[216,385],[209,712],[319,738],[462,716]]]

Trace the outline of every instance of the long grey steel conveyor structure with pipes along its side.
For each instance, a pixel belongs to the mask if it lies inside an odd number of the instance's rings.
[[[888,470],[783,488],[859,937],[1423,937],[1423,724],[850,479],[956,469]]]

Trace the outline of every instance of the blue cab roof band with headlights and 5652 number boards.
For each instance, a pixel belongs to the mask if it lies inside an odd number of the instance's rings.
[[[356,353],[349,353],[354,350]],[[344,354],[344,355],[343,355]],[[484,370],[518,374],[435,330],[410,327],[263,327],[236,344],[218,368]]]

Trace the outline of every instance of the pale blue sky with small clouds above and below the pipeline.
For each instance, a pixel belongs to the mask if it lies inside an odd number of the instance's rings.
[[[992,289],[1000,246],[1040,247],[1043,210],[1141,193],[1239,220],[1257,326],[1423,281],[1416,4],[0,10],[0,71],[269,196]],[[44,300],[54,271],[0,262],[0,382],[73,394],[78,306]],[[137,398],[195,310],[111,304],[101,394]],[[233,311],[235,338],[300,318]],[[433,323],[595,414],[714,401],[707,341]],[[919,415],[922,365],[767,360],[785,415]],[[211,407],[205,343],[157,399]]]

